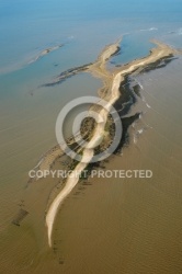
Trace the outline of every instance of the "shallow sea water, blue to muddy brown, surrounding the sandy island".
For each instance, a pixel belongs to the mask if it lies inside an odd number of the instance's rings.
[[[181,58],[137,77],[145,101],[132,112],[143,111],[141,119],[130,129],[123,157],[109,163],[151,169],[152,180],[93,180],[75,190],[57,218],[57,253],[47,251],[41,214],[50,182],[25,189],[30,169],[56,144],[59,111],[75,98],[95,95],[101,82],[81,73],[54,88],[38,85],[95,60],[121,35],[122,50],[110,68],[146,56],[153,37],[182,47],[181,7],[181,1],[100,0],[96,9],[93,1],[0,1],[2,273],[181,273]],[[15,227],[11,221],[27,196],[31,214]]]

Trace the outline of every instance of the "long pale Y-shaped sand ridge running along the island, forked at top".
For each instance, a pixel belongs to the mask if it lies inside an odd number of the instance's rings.
[[[109,102],[107,103],[109,111],[111,106],[118,100],[121,95],[120,87],[121,87],[121,83],[125,80],[126,76],[130,75],[137,69],[145,68],[148,65],[155,64],[164,58],[172,57],[174,54],[179,53],[178,50],[169,47],[168,45],[164,45],[157,41],[152,41],[152,43],[156,44],[157,47],[150,52],[149,56],[141,58],[141,59],[134,60],[123,66],[117,72],[111,73],[109,70],[106,70],[105,64],[106,64],[106,60],[110,59],[110,57],[118,50],[120,41],[106,47],[94,64],[89,65],[84,68],[84,70],[93,73],[93,76],[96,76],[103,80],[104,85],[105,85],[104,87],[105,92],[103,95],[102,94],[101,95],[103,99],[105,99]],[[75,69],[75,73],[76,73],[76,69]],[[102,123],[101,125],[96,125],[93,132],[93,137],[91,138],[91,140],[89,141],[89,144],[83,150],[82,162],[78,163],[75,170],[69,174],[66,181],[66,186],[60,191],[57,197],[53,201],[47,212],[46,225],[47,225],[49,247],[52,247],[53,226],[54,226],[54,221],[55,221],[57,212],[59,209],[59,206],[62,203],[62,201],[72,191],[76,184],[78,183],[79,174],[81,174],[81,172],[87,168],[87,165],[91,161],[94,155],[93,148],[96,145],[99,138],[104,134],[104,127],[107,121],[107,111],[103,109],[99,111],[99,115],[102,116],[104,123]]]

